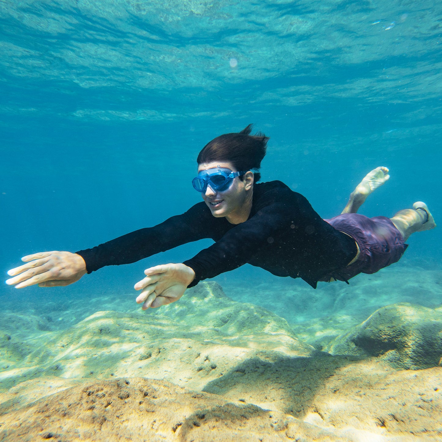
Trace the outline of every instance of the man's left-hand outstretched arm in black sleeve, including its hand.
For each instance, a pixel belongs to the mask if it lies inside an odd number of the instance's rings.
[[[207,218],[211,219],[210,210],[202,202],[154,227],[139,229],[91,249],[27,255],[22,258],[26,264],[8,271],[14,278],[6,283],[17,289],[34,284],[67,286],[101,267],[133,263],[160,251],[210,237]]]

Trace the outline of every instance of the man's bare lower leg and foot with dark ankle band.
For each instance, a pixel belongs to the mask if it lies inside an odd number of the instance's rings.
[[[414,232],[423,232],[436,227],[433,215],[428,210],[427,204],[422,201],[415,202],[412,209],[400,210],[390,219],[404,237],[404,241]]]

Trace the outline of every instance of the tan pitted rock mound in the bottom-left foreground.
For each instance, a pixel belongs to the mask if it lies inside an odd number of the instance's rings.
[[[295,419],[167,381],[120,378],[83,381],[23,408],[4,409],[0,421],[2,442],[184,442],[207,440],[207,434],[211,440],[232,441],[238,433],[244,441],[289,440],[286,429]]]

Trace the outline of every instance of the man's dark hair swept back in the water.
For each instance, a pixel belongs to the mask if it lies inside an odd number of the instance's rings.
[[[261,132],[250,135],[252,127],[249,124],[239,133],[225,133],[214,138],[199,152],[198,164],[228,161],[238,171],[251,170],[255,176],[254,183],[259,181],[261,174],[258,170],[266,155],[269,137]]]

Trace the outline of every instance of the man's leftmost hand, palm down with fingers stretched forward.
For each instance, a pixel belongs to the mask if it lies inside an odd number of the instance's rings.
[[[68,286],[86,274],[86,263],[76,253],[45,251],[23,256],[24,264],[8,271],[14,276],[6,284],[16,289],[38,284],[40,287]],[[15,276],[18,275],[18,276]]]

